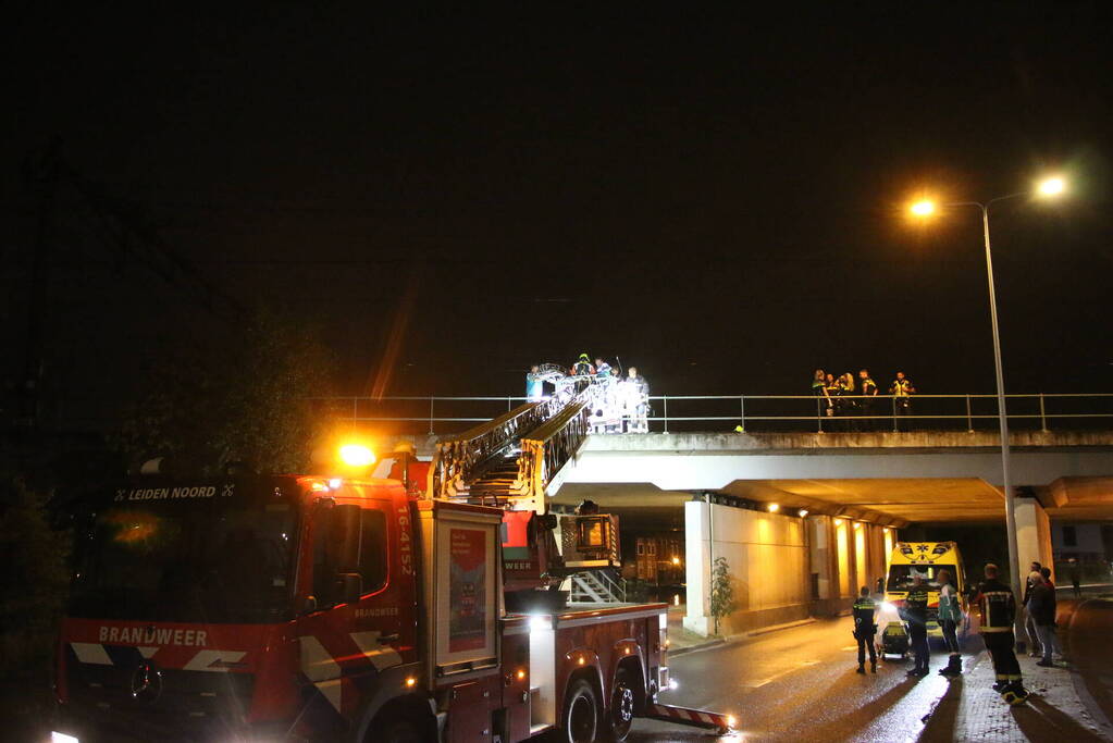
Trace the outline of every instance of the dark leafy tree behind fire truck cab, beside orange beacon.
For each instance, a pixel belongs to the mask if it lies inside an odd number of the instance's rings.
[[[313,327],[255,310],[227,338],[179,343],[156,364],[124,425],[132,464],[167,457],[174,470],[214,474],[230,462],[307,472],[332,418],[333,359]]]

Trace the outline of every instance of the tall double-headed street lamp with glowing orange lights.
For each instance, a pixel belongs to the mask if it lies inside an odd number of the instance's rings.
[[[1058,176],[1044,178],[1035,186],[1035,194],[1042,197],[1060,196],[1065,190],[1066,181]],[[997,297],[993,289],[993,255],[989,250],[989,205],[996,204],[997,201],[1004,201],[1006,199],[1015,199],[1020,196],[1031,196],[1031,191],[1018,191],[1016,194],[1008,194],[1007,196],[998,196],[997,198],[989,199],[984,204],[982,201],[955,201],[953,204],[943,205],[943,207],[977,207],[982,210],[982,234],[985,238],[985,274],[989,283],[989,323],[993,326],[993,361],[997,373],[997,419],[1001,423],[1001,478],[1002,487],[1005,491],[1005,533],[1008,536],[1008,573],[1012,577],[1013,594],[1017,598],[1024,594],[1021,593],[1021,572],[1020,565],[1016,562],[1016,511],[1015,503],[1013,501],[1012,482],[1008,475],[1008,415],[1005,412],[1005,379],[1001,370],[1001,336],[997,331]],[[935,202],[930,200],[917,201],[909,207],[909,210],[916,217],[929,217],[935,214]],[[1017,612],[1016,618],[1017,621],[1020,620],[1020,612]],[[1021,634],[1015,630],[1015,627],[1014,634],[1017,641],[1020,641]]]

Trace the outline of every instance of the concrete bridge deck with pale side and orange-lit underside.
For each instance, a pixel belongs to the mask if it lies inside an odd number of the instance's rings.
[[[623,505],[646,506],[654,491],[712,491],[893,526],[996,521],[999,440],[984,432],[592,436],[552,489],[567,499],[605,486],[608,496],[626,494]],[[1009,440],[1014,481],[1050,516],[1113,516],[1113,432]]]

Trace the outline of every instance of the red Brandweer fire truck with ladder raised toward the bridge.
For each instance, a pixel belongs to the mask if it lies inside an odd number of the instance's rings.
[[[89,502],[55,740],[580,743],[624,740],[637,716],[731,727],[658,702],[667,605],[568,603],[570,576],[618,564],[617,519],[544,507],[587,419],[574,400],[545,405],[443,439],[432,462],[402,453],[396,478],[150,475]]]

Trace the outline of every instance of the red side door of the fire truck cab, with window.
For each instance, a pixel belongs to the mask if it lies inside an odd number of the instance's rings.
[[[380,675],[415,660],[413,576],[398,568],[400,516],[391,501],[338,505],[313,526],[313,594],[317,611],[298,622],[301,671],[311,709],[346,719]],[[408,527],[408,516],[402,526]],[[407,535],[408,536],[408,535]]]

